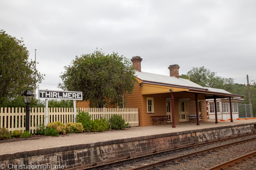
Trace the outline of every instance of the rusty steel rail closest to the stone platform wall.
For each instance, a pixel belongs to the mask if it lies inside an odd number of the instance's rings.
[[[154,151],[149,151],[149,152],[141,153],[141,154],[137,154],[137,155],[131,155],[128,157],[122,157],[122,158],[111,159],[111,160],[107,160],[107,161],[103,161],[103,162],[90,163],[87,165],[76,166],[76,167],[68,168],[66,170],[74,170],[74,169],[78,169],[78,168],[79,168],[79,170],[106,169],[110,166],[119,166],[119,165],[122,165],[125,163],[131,163],[133,161],[140,161],[142,159],[147,159],[147,158],[151,158],[153,156],[166,154],[168,152],[173,153],[173,152],[177,152],[177,151],[181,151],[181,150],[185,150],[185,149],[191,149],[191,148],[195,148],[195,147],[199,147],[199,146],[203,146],[203,145],[209,145],[209,144],[216,143],[216,142],[226,141],[226,140],[230,140],[230,139],[236,139],[236,138],[240,138],[240,137],[246,137],[246,136],[254,135],[254,134],[256,134],[256,132],[245,133],[245,134],[235,135],[235,136],[229,136],[229,137],[225,137],[225,138],[218,138],[216,140],[208,140],[208,141],[203,141],[203,142],[189,143],[188,145],[170,147],[170,148],[166,148],[166,149],[162,149],[162,150],[154,150]]]

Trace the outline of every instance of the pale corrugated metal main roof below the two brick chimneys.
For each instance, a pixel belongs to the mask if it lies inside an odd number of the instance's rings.
[[[205,90],[208,89],[194,82],[191,82],[188,79],[182,79],[182,78],[178,79],[176,77],[164,76],[164,75],[153,74],[148,72],[139,72],[139,71],[136,71],[135,75],[137,75],[136,77],[143,81],[146,80],[146,81],[156,82],[156,83],[166,83],[166,84],[174,84],[177,86],[196,87],[196,88],[203,88]]]

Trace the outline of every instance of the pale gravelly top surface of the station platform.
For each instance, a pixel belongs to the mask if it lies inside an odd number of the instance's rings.
[[[29,151],[29,150],[38,150],[44,148],[53,148],[60,146],[69,146],[69,145],[79,145],[86,143],[94,142],[104,142],[112,141],[116,139],[127,139],[134,137],[145,137],[148,135],[159,135],[167,133],[180,133],[184,131],[192,131],[212,128],[212,127],[223,127],[223,126],[233,126],[233,125],[243,125],[243,124],[256,124],[256,119],[249,120],[226,120],[225,122],[219,121],[215,123],[215,120],[208,120],[207,122],[200,122],[200,125],[197,126],[196,123],[179,123],[176,124],[176,128],[172,128],[172,125],[163,125],[161,126],[146,126],[146,127],[131,127],[125,130],[112,130],[105,131],[102,133],[83,133],[76,135],[65,135],[60,137],[48,137],[35,140],[26,140],[26,141],[16,141],[1,143],[0,154],[6,153],[15,153],[17,151]]]

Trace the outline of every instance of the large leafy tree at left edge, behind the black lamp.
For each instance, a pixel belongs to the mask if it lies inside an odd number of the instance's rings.
[[[43,75],[34,69],[29,61],[29,51],[18,40],[0,31],[0,104],[21,95],[27,86],[35,89],[41,83]]]

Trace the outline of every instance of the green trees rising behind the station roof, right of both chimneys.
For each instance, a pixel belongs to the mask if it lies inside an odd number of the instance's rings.
[[[234,87],[233,78],[222,78],[216,75],[217,72],[211,72],[203,67],[193,67],[187,74],[180,75],[180,78],[190,79],[192,82],[203,87],[221,88],[226,91],[232,91]]]

